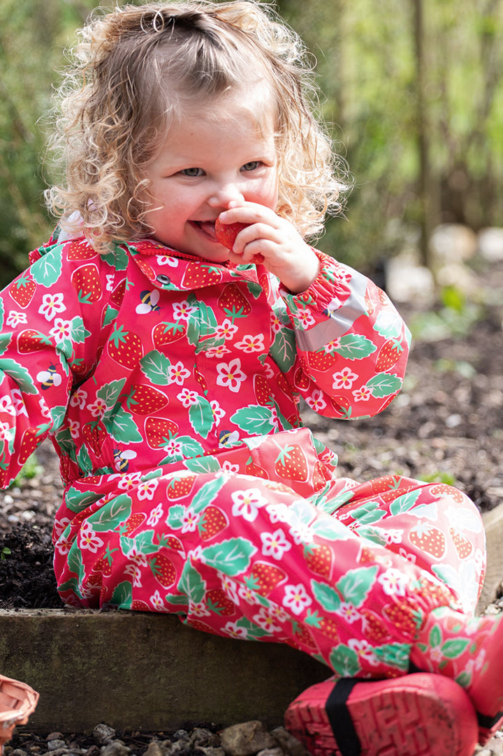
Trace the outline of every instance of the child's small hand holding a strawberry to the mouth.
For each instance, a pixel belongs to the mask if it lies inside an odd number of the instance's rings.
[[[318,258],[293,225],[274,210],[252,202],[229,203],[222,225],[243,224],[229,260],[236,265],[262,262],[293,293],[305,291],[318,275]]]

